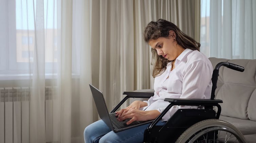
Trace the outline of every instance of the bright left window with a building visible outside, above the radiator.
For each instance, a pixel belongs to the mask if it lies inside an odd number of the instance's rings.
[[[36,0],[1,1],[0,80],[6,75],[17,76],[32,72],[36,43],[34,4]],[[45,74],[54,74],[57,67],[56,10],[56,0],[44,0]]]

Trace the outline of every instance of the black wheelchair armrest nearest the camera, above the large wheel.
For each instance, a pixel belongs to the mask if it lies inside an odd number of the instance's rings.
[[[206,105],[223,103],[223,101],[220,99],[165,98],[164,101],[181,105]]]

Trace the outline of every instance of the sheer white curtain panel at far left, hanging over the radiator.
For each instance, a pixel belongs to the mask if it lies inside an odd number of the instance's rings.
[[[1,1],[1,142],[45,142],[44,2]],[[2,31],[3,30],[3,31]],[[51,32],[53,27],[51,27]],[[6,84],[12,81],[15,84]],[[14,88],[20,84],[19,88]],[[22,84],[23,83],[23,84]],[[28,88],[21,88],[21,87]],[[13,89],[13,93],[10,90]],[[23,92],[27,89],[26,96]],[[5,91],[7,94],[3,94]],[[6,100],[11,97],[12,100]],[[12,105],[12,106],[8,106]],[[11,109],[11,110],[9,110]],[[22,110],[23,109],[23,110]],[[27,109],[27,110],[24,110]],[[23,114],[21,114],[23,111]],[[13,115],[8,116],[11,112]],[[22,120],[23,119],[23,120]],[[12,122],[13,124],[10,124]],[[11,128],[12,127],[12,128]],[[23,132],[24,131],[24,132]]]

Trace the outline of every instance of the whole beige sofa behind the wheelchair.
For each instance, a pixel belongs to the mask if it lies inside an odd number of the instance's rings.
[[[236,126],[248,143],[256,142],[256,60],[209,58],[213,67],[230,62],[244,67],[244,72],[222,66],[219,70],[216,99],[221,99],[221,116]]]

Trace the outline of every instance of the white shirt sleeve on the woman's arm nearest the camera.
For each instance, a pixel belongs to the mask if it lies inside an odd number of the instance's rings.
[[[209,98],[204,95],[205,90],[213,73],[213,67],[207,61],[196,60],[188,63],[184,68],[184,77],[182,81],[182,94],[180,98]],[[169,104],[169,102],[167,102]],[[178,109],[196,109],[197,106],[173,106],[162,118],[162,121],[167,121]],[[165,108],[157,109],[160,113]]]

